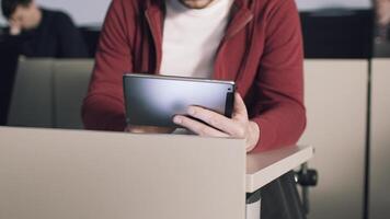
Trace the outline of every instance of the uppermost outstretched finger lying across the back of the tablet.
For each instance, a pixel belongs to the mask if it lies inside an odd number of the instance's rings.
[[[190,106],[187,113],[226,134],[231,136],[242,135],[241,127],[234,120],[221,114],[199,106]]]

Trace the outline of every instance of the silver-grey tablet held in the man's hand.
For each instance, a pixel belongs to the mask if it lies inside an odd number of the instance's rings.
[[[123,83],[128,125],[180,127],[173,123],[173,116],[186,115],[190,105],[227,117],[232,114],[233,81],[127,73]]]

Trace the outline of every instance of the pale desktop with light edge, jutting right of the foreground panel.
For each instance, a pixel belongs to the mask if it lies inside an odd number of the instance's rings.
[[[253,193],[313,157],[313,148],[294,146],[246,155],[246,193]]]

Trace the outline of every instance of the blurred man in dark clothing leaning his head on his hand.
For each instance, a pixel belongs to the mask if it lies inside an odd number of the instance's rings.
[[[37,7],[34,0],[2,0],[9,21],[7,44],[14,44],[26,57],[88,57],[87,46],[71,19]]]

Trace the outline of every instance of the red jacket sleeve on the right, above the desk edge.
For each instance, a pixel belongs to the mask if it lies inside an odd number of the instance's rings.
[[[278,1],[265,21],[265,50],[255,80],[260,139],[253,152],[290,146],[306,128],[302,36],[294,0]]]

